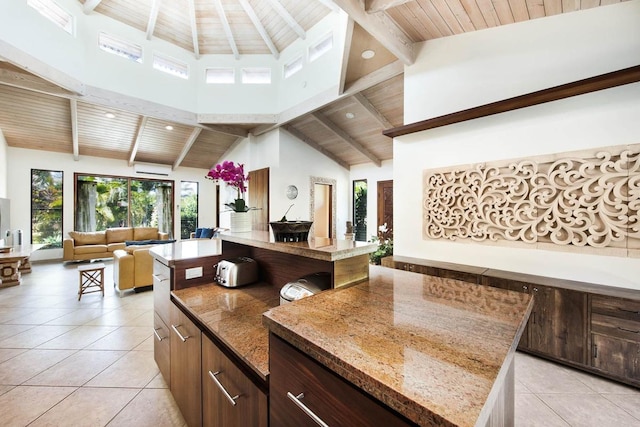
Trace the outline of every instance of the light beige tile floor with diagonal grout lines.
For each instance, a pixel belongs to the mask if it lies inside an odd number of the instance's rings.
[[[153,361],[153,293],[77,298],[77,265],[0,289],[0,426],[183,426]],[[516,354],[516,426],[640,427],[640,391]]]

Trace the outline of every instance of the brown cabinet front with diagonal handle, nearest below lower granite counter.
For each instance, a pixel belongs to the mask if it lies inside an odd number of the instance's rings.
[[[206,336],[202,337],[204,427],[266,427],[267,396]]]

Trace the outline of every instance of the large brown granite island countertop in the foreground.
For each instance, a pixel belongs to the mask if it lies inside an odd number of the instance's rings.
[[[532,306],[524,293],[371,266],[368,281],[273,308],[263,322],[417,424],[474,426]]]

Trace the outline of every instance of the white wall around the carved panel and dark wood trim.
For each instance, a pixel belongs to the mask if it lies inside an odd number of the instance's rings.
[[[638,22],[635,0],[428,41],[406,69],[406,120],[637,65]],[[635,83],[396,138],[395,254],[640,289],[638,259],[423,240],[418,190],[425,169],[638,143],[638,117]]]

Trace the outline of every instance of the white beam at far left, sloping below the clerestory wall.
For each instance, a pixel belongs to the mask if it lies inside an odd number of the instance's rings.
[[[10,64],[13,64],[18,68],[22,68],[29,73],[35,74],[36,76],[72,93],[78,95],[84,95],[85,93],[85,84],[81,81],[53,68],[51,65],[42,62],[29,54],[24,53],[22,50],[17,49],[15,46],[1,39],[0,57],[5,58]]]

